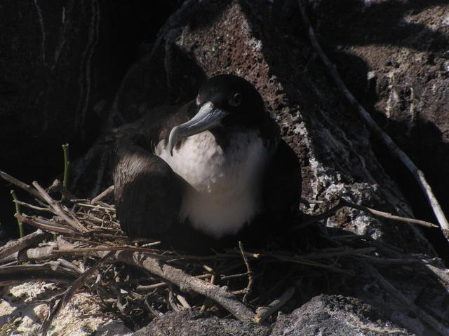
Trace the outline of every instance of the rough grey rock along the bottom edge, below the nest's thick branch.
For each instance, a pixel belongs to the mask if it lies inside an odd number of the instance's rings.
[[[194,311],[168,313],[133,336],[383,336],[412,335],[385,321],[360,300],[340,295],[320,295],[295,309],[279,314],[271,326],[244,324],[225,318],[204,317]]]

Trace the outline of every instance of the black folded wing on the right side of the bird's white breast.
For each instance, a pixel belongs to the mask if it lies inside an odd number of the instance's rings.
[[[300,162],[293,149],[281,140],[264,180],[264,221],[276,226],[293,218],[298,211],[301,187]]]

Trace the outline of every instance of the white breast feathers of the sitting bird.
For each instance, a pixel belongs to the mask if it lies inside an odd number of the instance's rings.
[[[182,197],[180,219],[216,238],[238,232],[260,211],[262,174],[269,152],[257,132],[236,132],[226,152],[210,132],[185,139],[173,157],[165,141],[156,155],[192,188]]]

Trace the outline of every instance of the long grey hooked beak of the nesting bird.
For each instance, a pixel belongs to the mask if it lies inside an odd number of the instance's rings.
[[[215,109],[212,102],[203,104],[194,118],[187,121],[187,123],[173,127],[170,131],[170,135],[168,136],[168,150],[170,151],[170,155],[173,155],[173,148],[176,146],[177,141],[220,126],[222,119],[228,114],[225,110]]]

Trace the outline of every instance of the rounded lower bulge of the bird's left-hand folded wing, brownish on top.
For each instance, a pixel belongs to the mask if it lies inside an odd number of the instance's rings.
[[[158,156],[122,140],[115,148],[114,196],[121,229],[157,237],[177,222],[182,183]]]

